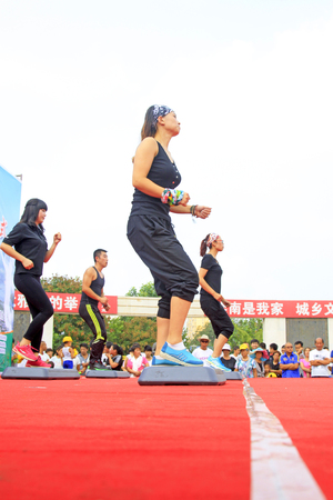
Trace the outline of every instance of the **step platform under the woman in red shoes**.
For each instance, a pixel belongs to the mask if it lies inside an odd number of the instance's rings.
[[[30,380],[73,380],[79,379],[78,370],[64,370],[63,368],[39,367],[8,367],[1,374],[2,379],[30,379]]]

